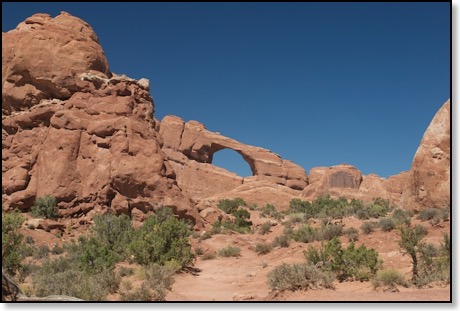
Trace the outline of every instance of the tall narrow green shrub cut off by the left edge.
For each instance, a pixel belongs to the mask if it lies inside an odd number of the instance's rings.
[[[24,258],[22,249],[25,245],[19,232],[24,220],[18,211],[2,211],[2,268],[12,276],[21,268]]]

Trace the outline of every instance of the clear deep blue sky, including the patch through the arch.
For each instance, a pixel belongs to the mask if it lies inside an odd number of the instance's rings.
[[[3,3],[2,31],[67,11],[155,115],[198,120],[307,170],[410,168],[450,97],[450,3]],[[222,154],[222,156],[220,156]],[[214,164],[243,176],[240,156]]]

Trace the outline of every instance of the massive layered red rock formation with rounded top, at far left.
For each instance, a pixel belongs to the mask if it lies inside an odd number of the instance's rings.
[[[148,80],[112,75],[91,27],[37,14],[2,38],[2,194],[11,208],[52,195],[61,216],[171,206],[201,223],[161,151]]]

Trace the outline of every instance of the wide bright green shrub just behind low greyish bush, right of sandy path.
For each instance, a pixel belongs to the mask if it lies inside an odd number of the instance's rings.
[[[364,245],[355,248],[354,242],[347,248],[342,248],[337,237],[322,244],[319,249],[310,245],[304,255],[307,262],[320,265],[324,271],[335,273],[340,281],[369,280],[381,264],[374,249],[367,249]]]

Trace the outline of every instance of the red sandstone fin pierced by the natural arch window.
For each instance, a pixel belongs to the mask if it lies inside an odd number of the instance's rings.
[[[179,117],[166,116],[161,121],[160,134],[163,151],[176,172],[179,186],[193,198],[207,198],[257,181],[298,191],[308,185],[305,170],[297,164],[267,149],[210,132],[197,121],[184,122]],[[242,178],[213,166],[213,154],[225,148],[241,154],[253,176]]]

